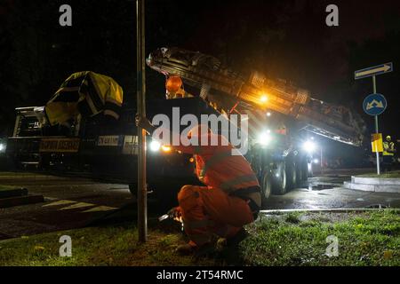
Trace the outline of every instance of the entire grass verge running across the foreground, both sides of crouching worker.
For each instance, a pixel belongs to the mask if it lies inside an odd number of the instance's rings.
[[[179,256],[178,228],[149,222],[148,242],[131,225],[88,227],[0,241],[0,265],[400,265],[400,213],[290,213],[247,226],[236,248],[212,256]],[[60,257],[61,235],[72,256]],[[326,256],[326,238],[337,237],[339,256]]]

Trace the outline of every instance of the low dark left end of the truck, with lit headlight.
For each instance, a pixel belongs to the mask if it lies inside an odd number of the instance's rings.
[[[180,114],[216,113],[202,99],[147,101],[148,117],[165,114],[172,108]],[[136,110],[123,107],[118,121],[104,121],[101,115],[81,120],[71,129],[42,125],[43,106],[16,108],[12,137],[7,140],[9,168],[54,175],[90,177],[105,182],[130,185],[137,191],[138,137]],[[79,131],[75,131],[79,129]],[[148,190],[162,193],[168,188],[198,183],[191,155],[172,151],[148,138]]]

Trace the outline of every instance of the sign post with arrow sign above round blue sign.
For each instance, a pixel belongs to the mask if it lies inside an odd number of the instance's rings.
[[[376,75],[382,75],[393,71],[393,63],[388,62],[374,67],[368,67],[357,70],[354,73],[354,78],[362,79],[372,76],[373,94],[364,99],[363,108],[366,114],[373,115],[375,118],[375,133],[379,134],[378,115],[382,114],[388,102],[383,95],[376,92]],[[380,152],[376,151],[376,172],[380,175]]]

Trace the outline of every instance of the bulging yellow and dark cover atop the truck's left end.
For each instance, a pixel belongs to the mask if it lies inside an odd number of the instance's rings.
[[[113,78],[83,71],[70,75],[44,110],[52,125],[67,122],[77,114],[87,117],[103,112],[118,119],[123,99],[123,90]]]

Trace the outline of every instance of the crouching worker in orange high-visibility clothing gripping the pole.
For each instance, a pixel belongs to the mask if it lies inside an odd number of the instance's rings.
[[[137,117],[137,124],[150,135],[155,130],[145,117]],[[194,155],[196,176],[205,185],[184,185],[178,193],[179,207],[174,213],[182,218],[190,239],[177,249],[181,254],[201,254],[213,248],[215,235],[228,240],[243,235],[243,226],[252,223],[260,211],[260,184],[249,162],[226,138],[204,124],[188,132],[198,145],[204,135],[208,146],[173,146]],[[218,146],[210,146],[212,136],[217,136]]]

